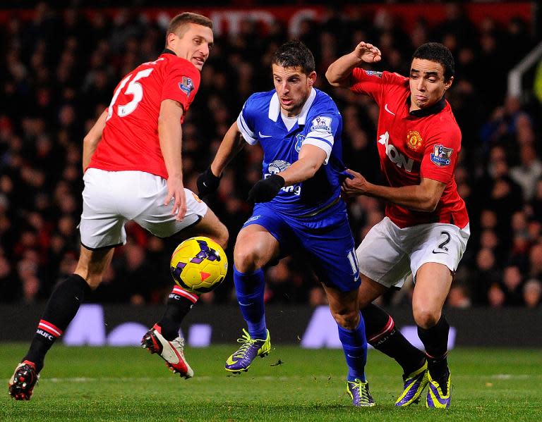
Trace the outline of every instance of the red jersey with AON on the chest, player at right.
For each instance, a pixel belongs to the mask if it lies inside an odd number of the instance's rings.
[[[433,212],[386,205],[386,215],[400,228],[423,223],[469,223],[465,203],[457,193],[454,169],[461,150],[461,132],[450,104],[409,111],[409,79],[389,72],[356,68],[351,90],[368,94],[380,106],[378,154],[380,168],[391,187],[419,185],[421,178],[446,184]]]

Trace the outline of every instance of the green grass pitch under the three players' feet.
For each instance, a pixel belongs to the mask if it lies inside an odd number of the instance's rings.
[[[367,374],[377,405],[354,408],[340,350],[273,347],[247,373],[224,360],[236,345],[187,349],[195,378],[167,371],[142,349],[55,346],[30,402],[8,397],[26,345],[0,345],[0,421],[542,421],[542,350],[455,349],[452,407],[396,409],[395,361],[371,350]],[[279,362],[281,362],[279,364]]]

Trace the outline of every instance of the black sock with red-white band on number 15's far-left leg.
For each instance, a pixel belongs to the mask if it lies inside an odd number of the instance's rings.
[[[45,306],[40,323],[23,361],[31,361],[37,372],[43,368],[45,354],[59,338],[77,311],[90,287],[80,275],[72,274],[56,286]]]

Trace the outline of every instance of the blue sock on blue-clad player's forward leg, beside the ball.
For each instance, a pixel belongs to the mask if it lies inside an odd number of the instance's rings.
[[[253,273],[241,273],[234,266],[234,285],[241,314],[248,325],[248,333],[252,338],[265,340],[267,327],[263,304],[265,290],[263,270],[260,268]]]

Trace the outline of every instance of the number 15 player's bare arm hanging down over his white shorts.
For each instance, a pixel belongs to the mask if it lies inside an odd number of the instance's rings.
[[[171,214],[176,220],[181,221],[186,214],[186,199],[183,186],[182,166],[182,130],[181,117],[183,106],[179,101],[164,99],[160,104],[158,117],[158,138],[160,150],[164,157],[167,169],[167,196],[164,198],[164,205],[168,205],[171,198],[174,198]]]

